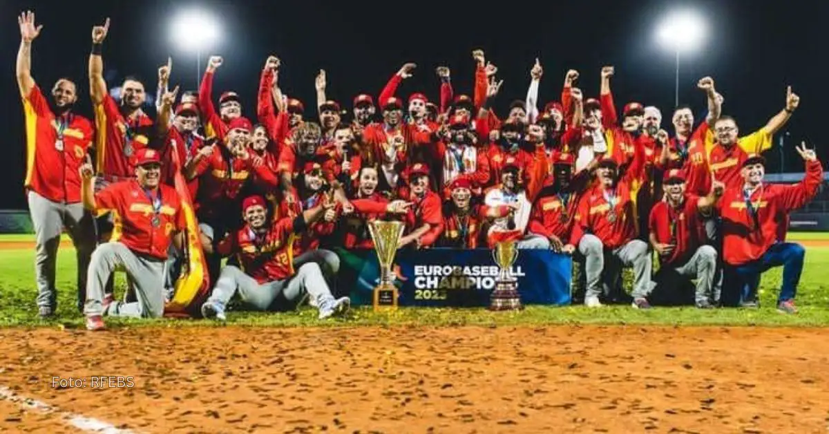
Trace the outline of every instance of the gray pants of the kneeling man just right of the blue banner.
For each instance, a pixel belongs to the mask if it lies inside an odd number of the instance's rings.
[[[633,298],[647,297],[653,289],[653,264],[645,241],[631,240],[624,246],[605,252],[599,237],[585,234],[579,241],[579,252],[584,255],[584,274],[587,280],[585,298],[601,295],[602,284],[607,288],[605,293],[613,290],[621,278],[623,266],[633,267]]]

